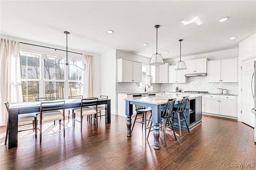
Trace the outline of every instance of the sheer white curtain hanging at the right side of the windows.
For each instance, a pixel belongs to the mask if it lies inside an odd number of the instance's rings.
[[[82,72],[83,97],[93,97],[93,56],[83,54],[86,69]]]

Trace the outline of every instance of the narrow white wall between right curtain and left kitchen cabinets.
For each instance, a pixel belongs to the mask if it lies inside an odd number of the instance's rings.
[[[111,99],[111,113],[116,114],[116,49],[101,55],[101,94]]]

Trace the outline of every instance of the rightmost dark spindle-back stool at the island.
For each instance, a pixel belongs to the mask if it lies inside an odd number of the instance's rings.
[[[174,107],[174,109],[173,109],[174,115],[172,117],[172,122],[176,125],[179,125],[180,137],[182,137],[180,122],[184,121],[186,123],[186,127],[188,128],[188,122],[187,122],[187,119],[186,119],[186,116],[185,116],[186,104],[187,104],[187,101],[188,101],[188,97],[189,96],[184,96],[182,98],[182,101],[180,102],[180,105],[178,107]],[[182,113],[182,115],[180,115],[181,113]],[[175,115],[177,115],[177,117],[175,117]],[[183,119],[181,119],[182,118],[181,116],[183,117]],[[190,132],[189,128],[188,128],[188,132]]]

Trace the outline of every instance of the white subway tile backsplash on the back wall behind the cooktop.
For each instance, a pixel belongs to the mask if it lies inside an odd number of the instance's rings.
[[[208,83],[207,77],[188,77],[188,83],[164,83],[161,91],[175,91],[176,87],[183,91],[208,91],[217,93],[217,89],[227,89],[228,93],[238,94],[238,83]]]

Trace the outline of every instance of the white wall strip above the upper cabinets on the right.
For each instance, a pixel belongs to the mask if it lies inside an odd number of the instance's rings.
[[[205,57],[208,57],[210,60],[238,57],[238,48],[181,57],[181,60],[184,60],[186,62],[187,60],[205,58]],[[180,60],[180,58],[168,59],[168,60],[164,60],[164,62],[170,63],[171,65],[175,65],[178,60]]]

